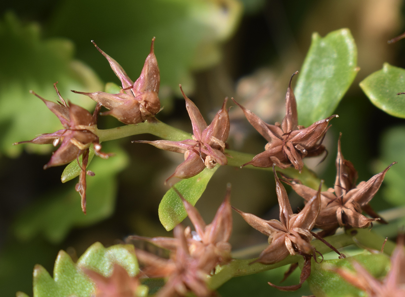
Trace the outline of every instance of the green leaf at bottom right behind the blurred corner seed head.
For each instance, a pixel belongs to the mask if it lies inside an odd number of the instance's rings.
[[[311,275],[307,279],[309,288],[317,297],[362,297],[364,292],[348,284],[332,267],[352,269],[351,261],[357,261],[375,278],[385,276],[390,269],[390,258],[385,254],[359,254],[345,259],[324,260],[318,264],[312,261]]]

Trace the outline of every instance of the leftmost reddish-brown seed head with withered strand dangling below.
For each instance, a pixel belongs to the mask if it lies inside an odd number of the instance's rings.
[[[41,134],[33,140],[26,140],[16,142],[14,144],[21,143],[35,143],[35,144],[53,144],[59,148],[53,153],[51,159],[44,165],[44,169],[53,166],[60,166],[77,159],[79,163],[79,156],[83,156],[83,164],[81,166],[81,172],[79,176],[79,183],[76,185],[76,191],[81,196],[81,208],[86,213],[86,173],[93,176],[91,171],[86,172],[86,166],[89,158],[89,147],[91,144],[94,146],[94,153],[103,159],[107,159],[112,154],[102,153],[101,145],[98,141],[96,134],[97,129],[97,114],[100,111],[100,104],[96,105],[93,115],[84,108],[72,104],[67,104],[60,95],[56,83],[53,84],[56,93],[58,93],[61,102],[55,103],[45,100],[40,97],[34,91],[30,91],[36,97],[40,98],[46,106],[58,117],[62,123],[64,129],[49,134]]]

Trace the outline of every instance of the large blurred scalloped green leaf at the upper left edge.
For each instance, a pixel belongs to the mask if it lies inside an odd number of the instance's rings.
[[[90,68],[73,59],[72,42],[43,39],[37,24],[23,24],[12,13],[0,19],[0,44],[0,55],[7,57],[0,64],[0,151],[9,156],[17,156],[24,147],[28,151],[49,152],[51,145],[12,145],[62,129],[58,118],[30,94],[30,89],[55,101],[58,97],[53,83],[59,81],[62,97],[91,109],[92,100],[69,90],[99,91],[102,85]]]

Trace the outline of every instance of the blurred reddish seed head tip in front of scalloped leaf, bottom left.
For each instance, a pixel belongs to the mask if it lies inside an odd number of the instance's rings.
[[[81,270],[94,282],[94,297],[136,297],[140,286],[139,277],[131,277],[122,266],[114,264],[113,274],[110,277],[102,276],[97,272],[81,268]]]

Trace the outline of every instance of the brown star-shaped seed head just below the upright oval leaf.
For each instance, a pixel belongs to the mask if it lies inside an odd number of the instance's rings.
[[[297,74],[295,72],[294,74]],[[322,141],[326,131],[329,129],[329,121],[337,115],[332,115],[324,120],[317,121],[305,128],[298,125],[297,105],[294,92],[288,84],[286,94],[286,116],[282,123],[270,125],[264,123],[257,115],[241,106],[235,100],[232,100],[242,108],[245,117],[250,124],[269,142],[264,147],[265,151],[256,155],[252,161],[243,164],[256,167],[271,167],[275,163],[279,168],[290,167],[291,164],[299,171],[303,169],[304,157],[315,157],[325,151]]]

